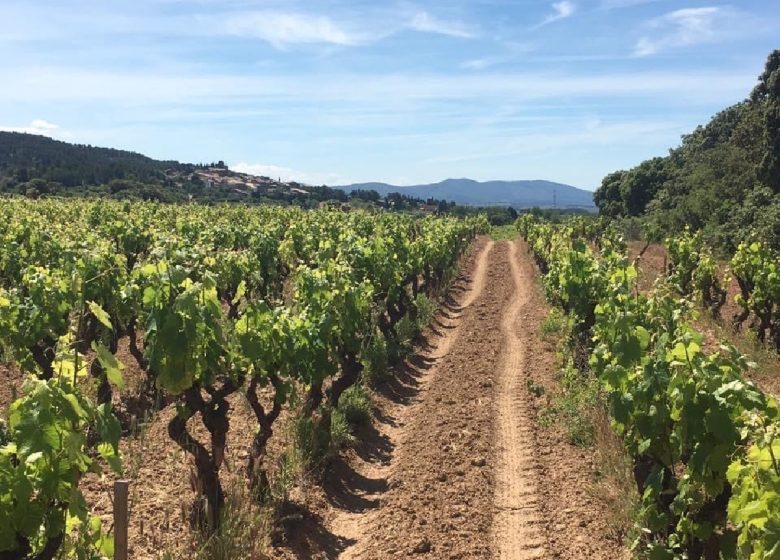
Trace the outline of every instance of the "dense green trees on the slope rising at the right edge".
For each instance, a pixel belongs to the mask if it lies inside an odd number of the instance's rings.
[[[747,99],[668,156],[607,175],[594,200],[607,217],[642,217],[651,233],[689,225],[725,251],[752,236],[780,247],[780,50]]]

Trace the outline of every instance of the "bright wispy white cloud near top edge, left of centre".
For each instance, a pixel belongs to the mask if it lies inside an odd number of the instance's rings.
[[[227,18],[224,30],[231,35],[262,39],[277,48],[301,43],[346,46],[363,40],[326,16],[302,13],[241,13]]]

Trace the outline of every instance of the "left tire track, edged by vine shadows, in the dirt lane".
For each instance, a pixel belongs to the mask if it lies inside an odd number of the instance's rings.
[[[428,340],[427,352],[418,353],[421,358],[420,363],[424,363],[423,369],[427,372],[419,371],[416,366],[409,363],[408,367],[415,370],[416,375],[420,377],[420,385],[417,390],[420,394],[425,388],[433,383],[439,373],[439,365],[452,350],[453,345],[461,333],[461,323],[465,311],[479,299],[487,284],[488,261],[495,242],[488,240],[482,247],[474,265],[468,288],[456,297],[456,311],[450,314],[438,314],[435,323],[434,332],[440,333],[435,338]],[[419,399],[418,399],[419,401]],[[405,426],[408,420],[414,418],[422,403],[406,400],[400,402],[391,402],[382,407],[381,415],[383,417],[381,425],[381,437],[387,442],[385,445],[394,450],[389,459],[381,460],[379,458],[370,458],[368,461],[356,461],[352,465],[354,469],[353,479],[361,479],[362,484],[359,488],[352,490],[353,499],[359,500],[362,504],[370,504],[368,507],[341,509],[335,517],[330,520],[329,529],[334,535],[345,543],[352,543],[346,550],[338,555],[339,559],[364,559],[375,558],[375,552],[372,552],[370,530],[374,520],[374,515],[381,506],[382,496],[388,490],[388,480],[391,478],[395,465],[398,463],[402,451],[401,442],[406,436]],[[411,434],[414,437],[414,434]]]

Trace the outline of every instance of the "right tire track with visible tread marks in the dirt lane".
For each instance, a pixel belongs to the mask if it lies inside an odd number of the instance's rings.
[[[533,412],[522,394],[528,356],[517,334],[533,279],[521,273],[514,242],[509,242],[509,261],[514,289],[501,320],[503,357],[495,402],[498,457],[491,540],[497,558],[535,560],[547,557],[547,551],[536,483]]]

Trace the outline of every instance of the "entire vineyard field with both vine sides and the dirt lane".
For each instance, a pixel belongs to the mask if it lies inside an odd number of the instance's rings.
[[[0,558],[111,557],[119,478],[130,558],[774,558],[773,386],[687,234],[638,274],[582,219],[0,218]]]

